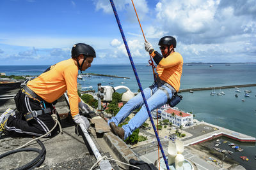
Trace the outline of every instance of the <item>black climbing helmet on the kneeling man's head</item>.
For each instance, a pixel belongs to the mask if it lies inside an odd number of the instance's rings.
[[[84,57],[96,57],[95,50],[90,45],[84,43],[78,43],[72,47],[71,56],[77,58],[79,55],[83,54]]]

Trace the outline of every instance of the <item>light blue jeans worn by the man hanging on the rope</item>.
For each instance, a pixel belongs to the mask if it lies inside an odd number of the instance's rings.
[[[162,85],[162,87],[164,87],[164,89],[168,91],[170,98],[172,98],[172,89],[169,89],[165,85]],[[144,89],[143,92],[147,99],[148,108],[150,112],[156,110],[157,108],[160,108],[161,106],[167,103],[168,97],[166,96],[163,90],[157,88],[156,83],[154,83],[154,85],[152,85],[151,87],[147,87],[146,89]],[[146,122],[148,118],[147,108],[144,104],[141,93],[134,96],[131,100],[129,100],[121,108],[121,110],[118,111],[116,116],[108,121],[108,124],[110,122],[114,122],[116,125],[120,124],[125,120],[125,118],[127,118],[132,113],[132,111],[140,107],[140,111],[136,113],[136,115],[128,122],[128,124],[122,126],[122,128],[125,131],[124,139],[128,138],[132,134],[132,132],[138,129],[144,122]]]

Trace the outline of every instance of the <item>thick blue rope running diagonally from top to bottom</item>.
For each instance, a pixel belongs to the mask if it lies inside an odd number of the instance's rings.
[[[162,152],[162,155],[163,155],[163,158],[164,158],[164,162],[165,162],[165,164],[166,164],[166,168],[167,168],[168,170],[170,170],[170,168],[169,168],[169,166],[168,166],[168,162],[167,162],[166,157],[165,157],[165,155],[164,155],[164,150],[163,150],[163,147],[162,147],[162,145],[161,145],[161,141],[160,141],[159,136],[158,136],[157,131],[156,131],[156,126],[155,126],[154,121],[153,121],[153,118],[152,118],[152,116],[151,116],[151,114],[150,114],[150,110],[148,109],[148,103],[147,103],[146,97],[145,97],[145,95],[144,95],[143,89],[142,89],[142,87],[141,87],[140,79],[139,79],[139,76],[138,76],[138,74],[137,74],[136,68],[135,68],[135,66],[134,66],[134,62],[133,62],[133,60],[132,60],[131,52],[130,52],[130,50],[129,50],[129,46],[128,46],[128,44],[127,44],[127,41],[126,41],[126,39],[125,39],[125,35],[124,35],[124,31],[123,31],[123,29],[122,29],[121,22],[120,22],[120,20],[119,20],[119,18],[118,18],[118,14],[117,14],[117,11],[116,11],[115,4],[114,4],[113,0],[109,0],[109,1],[110,1],[110,3],[111,3],[111,6],[112,6],[113,11],[114,11],[114,13],[115,13],[116,22],[117,22],[117,24],[118,24],[120,33],[121,33],[121,35],[122,35],[122,38],[123,38],[123,41],[124,41],[124,45],[125,45],[126,51],[127,51],[127,53],[128,53],[128,56],[129,56],[129,59],[130,59],[131,65],[132,65],[132,69],[133,69],[134,75],[135,75],[135,77],[136,77],[138,86],[140,87],[141,96],[143,97],[143,101],[144,101],[145,106],[146,106],[146,108],[147,108],[148,117],[150,118],[150,122],[151,122],[151,124],[152,124],[152,126],[153,126],[153,129],[154,129],[154,132],[155,132],[155,134],[156,134],[157,142],[158,142],[158,145],[160,146],[160,149],[161,149],[161,152]]]

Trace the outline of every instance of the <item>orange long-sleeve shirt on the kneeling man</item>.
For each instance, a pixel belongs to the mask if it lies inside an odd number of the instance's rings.
[[[68,91],[72,117],[79,113],[78,103],[81,101],[77,94],[78,67],[73,59],[58,62],[45,73],[28,82],[28,87],[48,103],[59,99]]]

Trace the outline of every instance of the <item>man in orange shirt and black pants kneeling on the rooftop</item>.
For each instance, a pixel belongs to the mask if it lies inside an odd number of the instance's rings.
[[[90,123],[87,118],[79,115],[79,108],[86,113],[89,113],[90,108],[77,94],[77,75],[79,69],[82,72],[91,66],[96,53],[92,46],[78,43],[72,47],[71,54],[72,59],[54,64],[19,90],[14,98],[17,111],[6,111],[0,116],[0,133],[8,131],[42,136],[51,131],[55,124],[51,117],[54,112],[52,103],[66,90],[74,122],[88,129]],[[47,136],[51,135],[49,133]]]

